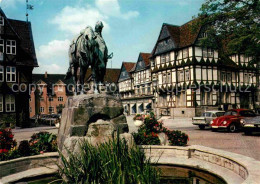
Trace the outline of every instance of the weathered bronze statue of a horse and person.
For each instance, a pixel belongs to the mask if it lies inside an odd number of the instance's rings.
[[[76,84],[76,95],[79,93],[84,94],[84,79],[89,67],[91,67],[94,81],[94,93],[100,93],[98,86],[104,82],[107,61],[113,57],[113,53],[108,55],[107,46],[102,37],[103,27],[101,21],[96,23],[95,31],[90,26],[87,26],[70,44],[69,69],[65,79],[73,77]]]

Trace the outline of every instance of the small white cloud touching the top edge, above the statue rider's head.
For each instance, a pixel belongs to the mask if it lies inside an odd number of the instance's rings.
[[[117,18],[130,19],[139,15],[137,11],[122,13],[118,0],[96,0],[96,6],[105,15]]]

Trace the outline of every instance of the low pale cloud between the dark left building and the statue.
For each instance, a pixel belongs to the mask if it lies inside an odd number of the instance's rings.
[[[53,40],[37,49],[39,68],[34,73],[66,73],[69,66],[69,40]]]

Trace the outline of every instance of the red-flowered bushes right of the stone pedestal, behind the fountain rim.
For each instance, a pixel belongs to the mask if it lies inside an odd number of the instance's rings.
[[[164,127],[163,123],[158,121],[153,113],[150,113],[150,115],[137,114],[134,120],[143,121],[143,125],[139,127],[137,133],[132,133],[138,145],[160,145],[159,133],[165,133],[169,144],[172,146],[185,146],[189,141],[187,134]]]

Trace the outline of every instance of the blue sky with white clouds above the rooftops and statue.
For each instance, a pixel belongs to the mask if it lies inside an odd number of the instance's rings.
[[[0,0],[7,17],[25,20],[26,0]],[[182,25],[197,15],[204,0],[29,0],[39,68],[34,73],[65,73],[70,40],[87,25],[104,22],[103,37],[112,67],[136,62],[151,52],[163,23]],[[111,60],[108,63],[111,67]]]

